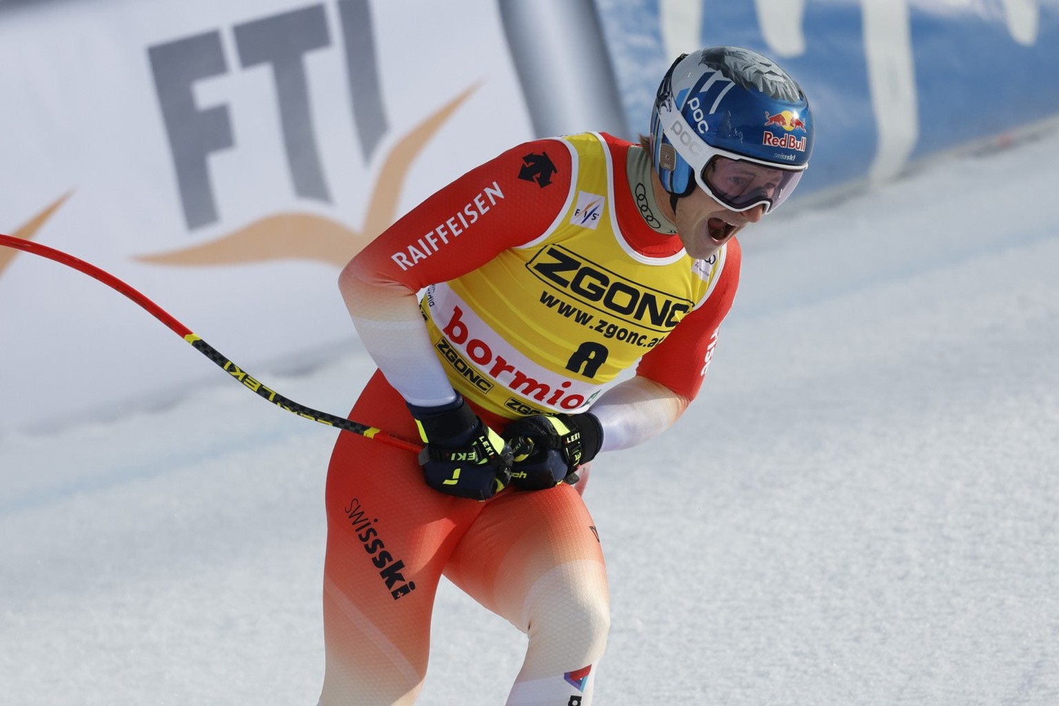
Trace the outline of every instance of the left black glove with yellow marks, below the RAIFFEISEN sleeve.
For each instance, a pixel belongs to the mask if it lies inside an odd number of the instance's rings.
[[[511,479],[511,450],[464,403],[408,409],[427,447],[419,452],[423,475],[434,490],[456,497],[488,500]]]

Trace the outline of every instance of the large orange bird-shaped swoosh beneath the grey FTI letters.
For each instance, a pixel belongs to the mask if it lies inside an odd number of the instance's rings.
[[[287,213],[266,216],[219,239],[136,259],[173,267],[245,265],[310,259],[344,266],[396,219],[397,201],[412,163],[438,128],[478,90],[475,84],[428,115],[401,139],[382,163],[361,232],[323,216]]]

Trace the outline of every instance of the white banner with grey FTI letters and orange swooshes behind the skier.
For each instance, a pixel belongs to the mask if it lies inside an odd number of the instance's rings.
[[[532,137],[493,0],[16,4],[0,103],[0,232],[109,271],[261,377],[349,345],[341,266]],[[0,248],[4,428],[218,375],[108,287]]]

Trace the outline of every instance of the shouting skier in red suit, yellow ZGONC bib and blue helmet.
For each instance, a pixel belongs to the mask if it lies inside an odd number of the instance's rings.
[[[695,398],[735,235],[790,196],[812,140],[779,67],[700,50],[666,73],[640,144],[519,145],[349,261],[340,289],[378,365],[351,418],[426,448],[335,447],[322,706],[415,701],[443,575],[528,636],[508,704],[591,703],[610,618],[588,464]]]

